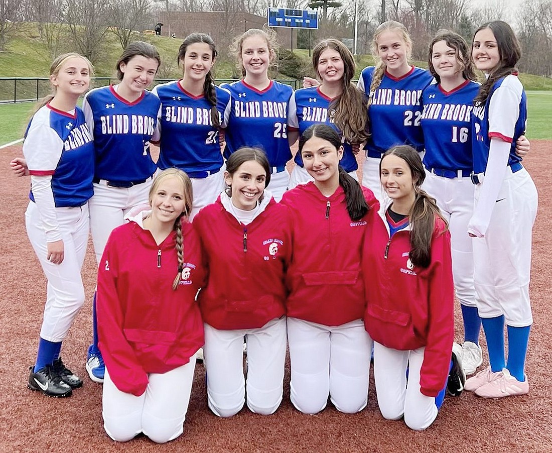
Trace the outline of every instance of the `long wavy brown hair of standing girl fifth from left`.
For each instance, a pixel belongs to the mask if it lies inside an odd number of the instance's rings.
[[[320,41],[312,49],[312,66],[316,72],[320,54],[326,49],[335,50],[343,60],[341,95],[330,103],[328,114],[332,114],[333,122],[349,143],[363,143],[368,138],[367,98],[351,83],[357,67],[353,55],[347,46],[337,39]]]

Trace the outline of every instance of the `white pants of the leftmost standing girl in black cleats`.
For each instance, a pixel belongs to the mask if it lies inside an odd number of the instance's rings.
[[[54,343],[65,339],[84,303],[81,268],[88,245],[88,204],[76,208],[56,208],[56,217],[63,240],[61,264],[47,260],[46,234],[36,204],[30,202],[25,212],[27,234],[47,280],[40,338]]]

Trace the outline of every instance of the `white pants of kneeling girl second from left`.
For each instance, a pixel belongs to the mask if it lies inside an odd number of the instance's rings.
[[[282,403],[286,347],[285,317],[258,329],[219,330],[204,324],[204,365],[209,409],[231,417],[245,403],[251,412],[270,415]],[[247,382],[243,375],[243,338],[247,343]]]

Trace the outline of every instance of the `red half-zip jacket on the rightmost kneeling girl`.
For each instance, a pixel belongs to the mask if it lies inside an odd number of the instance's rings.
[[[431,264],[413,266],[410,229],[389,238],[385,209],[368,214],[362,268],[364,325],[378,343],[402,351],[425,346],[421,392],[435,397],[447,380],[454,338],[454,286],[450,233],[436,218]]]

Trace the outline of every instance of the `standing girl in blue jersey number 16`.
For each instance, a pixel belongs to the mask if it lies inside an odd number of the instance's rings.
[[[436,198],[449,223],[454,284],[464,322],[461,359],[466,375],[471,375],[482,362],[473,247],[466,234],[474,206],[474,185],[470,180],[473,171],[470,120],[473,100],[480,86],[473,81],[475,72],[468,44],[452,31],[443,31],[433,39],[428,63],[437,83],[432,83],[422,93],[421,126],[426,149],[423,188]],[[526,140],[518,142],[519,152],[524,151],[525,144]]]

